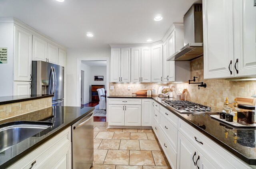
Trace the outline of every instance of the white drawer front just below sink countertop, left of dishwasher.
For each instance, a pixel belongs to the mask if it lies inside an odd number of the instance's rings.
[[[71,127],[67,128],[51,140],[47,141],[12,166],[9,169],[29,169],[34,161],[33,168],[43,168],[53,157],[56,157],[62,149],[67,147],[71,143]]]

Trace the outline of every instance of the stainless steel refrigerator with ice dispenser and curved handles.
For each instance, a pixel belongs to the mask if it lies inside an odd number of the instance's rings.
[[[54,94],[52,106],[64,106],[64,67],[32,61],[31,94]]]

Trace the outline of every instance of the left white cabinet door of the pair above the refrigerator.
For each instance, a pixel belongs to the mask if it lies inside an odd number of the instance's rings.
[[[33,35],[32,60],[47,61],[47,41]]]

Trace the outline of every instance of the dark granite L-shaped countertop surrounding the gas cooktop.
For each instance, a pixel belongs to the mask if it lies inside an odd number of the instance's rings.
[[[180,114],[171,106],[162,103],[162,98],[157,96],[110,95],[108,98],[152,98],[242,161],[249,165],[256,165],[255,128],[235,128],[211,118],[209,114]],[[175,98],[169,99],[175,100]]]

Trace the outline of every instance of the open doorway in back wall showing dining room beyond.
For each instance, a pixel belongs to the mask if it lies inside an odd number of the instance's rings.
[[[109,58],[79,58],[78,69],[80,105],[94,107],[94,121],[106,122]]]

